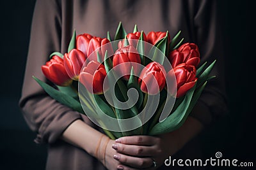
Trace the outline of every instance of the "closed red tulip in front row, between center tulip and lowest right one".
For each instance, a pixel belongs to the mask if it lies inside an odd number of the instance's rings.
[[[166,72],[161,64],[150,62],[140,74],[141,90],[148,94],[157,94],[164,88],[165,76]]]

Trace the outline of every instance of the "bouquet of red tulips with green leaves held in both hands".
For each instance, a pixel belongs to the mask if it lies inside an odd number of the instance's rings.
[[[200,67],[194,43],[178,32],[127,34],[115,38],[74,32],[64,55],[53,52],[42,72],[54,86],[33,77],[56,101],[86,114],[112,139],[156,135],[179,128],[193,109],[214,62]]]

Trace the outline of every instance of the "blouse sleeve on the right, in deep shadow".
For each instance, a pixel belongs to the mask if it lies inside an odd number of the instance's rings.
[[[191,113],[191,116],[200,120],[204,125],[209,125],[227,113],[220,18],[216,1],[195,1],[190,5],[194,9],[191,14],[193,16],[193,39],[200,49],[200,63],[207,61],[209,65],[216,59],[211,72],[211,75],[215,75],[216,78],[208,81]]]

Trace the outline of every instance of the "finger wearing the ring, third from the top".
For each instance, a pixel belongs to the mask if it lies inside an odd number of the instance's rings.
[[[118,160],[121,164],[133,168],[150,168],[153,166],[153,162],[150,157],[139,158],[117,153],[114,155],[114,159]]]

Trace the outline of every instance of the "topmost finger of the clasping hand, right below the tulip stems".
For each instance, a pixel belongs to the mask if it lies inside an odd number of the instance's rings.
[[[151,146],[156,144],[157,140],[159,140],[159,138],[153,136],[124,136],[116,139],[116,143]]]

